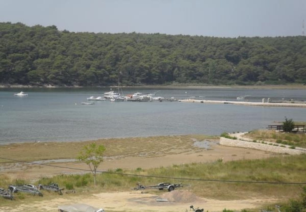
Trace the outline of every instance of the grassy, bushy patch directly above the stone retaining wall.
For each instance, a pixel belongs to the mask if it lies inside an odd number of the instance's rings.
[[[248,137],[278,144],[306,148],[305,133],[284,133],[271,130],[254,130],[246,134]],[[265,143],[265,142],[263,142]]]

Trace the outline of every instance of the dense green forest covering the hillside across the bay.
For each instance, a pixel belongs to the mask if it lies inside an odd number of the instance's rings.
[[[306,36],[89,33],[0,23],[0,83],[261,85],[306,82]]]

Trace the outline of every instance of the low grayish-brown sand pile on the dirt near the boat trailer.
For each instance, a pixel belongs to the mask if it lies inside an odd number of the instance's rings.
[[[198,200],[199,198],[191,191],[174,190],[160,195],[158,199],[166,199],[168,202],[190,203]]]

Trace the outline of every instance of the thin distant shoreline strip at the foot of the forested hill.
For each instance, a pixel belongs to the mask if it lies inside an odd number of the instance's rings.
[[[1,88],[117,88],[118,86],[67,86],[67,85],[16,85],[16,84],[0,84]],[[209,88],[243,88],[243,89],[306,89],[302,84],[288,85],[137,85],[122,86],[123,88],[139,88],[139,89],[209,89]]]

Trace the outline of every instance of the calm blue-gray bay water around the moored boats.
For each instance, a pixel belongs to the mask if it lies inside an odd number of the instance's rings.
[[[186,99],[250,101],[305,100],[305,89],[123,89],[124,94],[154,93]],[[258,107],[186,102],[95,102],[81,105],[89,96],[103,96],[106,88],[0,89],[0,144],[35,141],[80,141],[97,138],[155,135],[209,134],[265,128],[284,117],[306,120],[306,108]],[[200,96],[200,97],[199,97]],[[76,103],[76,104],[75,104]]]

